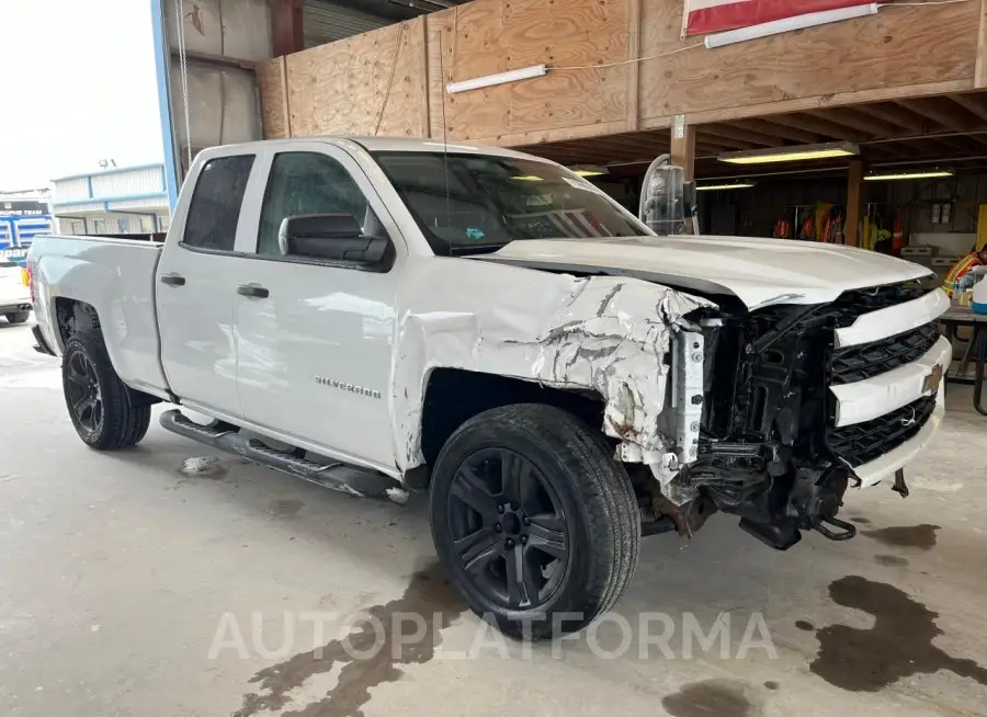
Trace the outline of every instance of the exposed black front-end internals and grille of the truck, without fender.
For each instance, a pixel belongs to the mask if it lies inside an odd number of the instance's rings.
[[[867,314],[901,311],[908,301],[938,306],[937,291],[909,282],[849,291],[829,304],[687,316],[702,327],[702,341],[688,332],[678,339],[672,366],[680,390],[669,396],[669,410],[678,421],[683,410],[702,406],[697,452],[670,479],[663,466],[650,466],[661,485],[660,494],[653,493],[656,520],[671,517],[679,533],[691,535],[719,510],[778,549],[795,545],[805,530],[832,540],[853,537],[854,526],[837,517],[844,492],[861,485],[859,467],[881,470],[875,464],[930,423],[941,373],[919,376],[917,400],[847,424],[839,420],[838,391],[926,371],[922,358],[939,360],[944,342],[934,322],[920,320],[906,332],[854,345],[841,348],[837,337]],[[690,351],[697,345],[704,349],[701,394],[691,389],[690,360],[699,356]],[[900,468],[892,473],[894,490],[907,496]]]

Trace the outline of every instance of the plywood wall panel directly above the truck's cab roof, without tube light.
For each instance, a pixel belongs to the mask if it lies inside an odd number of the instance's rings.
[[[428,116],[423,22],[288,55],[292,135],[421,136]]]

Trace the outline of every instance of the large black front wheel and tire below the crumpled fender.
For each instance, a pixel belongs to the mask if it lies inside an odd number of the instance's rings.
[[[429,515],[450,582],[514,638],[581,629],[637,566],[640,514],[624,467],[552,406],[496,408],[460,426],[435,462]]]

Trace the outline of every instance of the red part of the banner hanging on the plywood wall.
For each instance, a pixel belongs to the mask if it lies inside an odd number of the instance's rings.
[[[870,3],[860,0],[685,0],[685,34],[705,35],[809,12],[865,4]]]

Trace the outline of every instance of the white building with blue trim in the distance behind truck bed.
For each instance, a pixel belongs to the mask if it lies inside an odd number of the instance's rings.
[[[61,234],[150,234],[168,228],[163,164],[104,169],[53,180]]]

